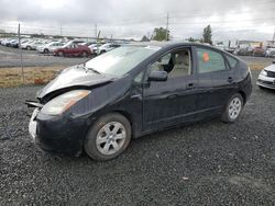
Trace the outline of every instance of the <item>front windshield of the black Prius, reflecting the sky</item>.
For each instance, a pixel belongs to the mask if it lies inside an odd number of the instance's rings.
[[[120,77],[132,70],[158,49],[161,47],[122,46],[87,61],[86,67],[92,68],[100,73]]]

